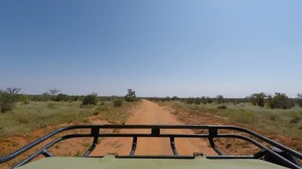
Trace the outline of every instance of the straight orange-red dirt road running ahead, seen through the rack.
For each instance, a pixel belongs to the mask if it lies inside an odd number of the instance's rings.
[[[132,116],[128,119],[127,125],[181,125],[169,111],[157,104],[143,100],[140,108],[133,110]],[[150,129],[121,129],[121,133],[151,133]],[[193,133],[192,130],[164,129],[161,133]],[[102,139],[91,156],[105,155],[107,153],[118,153],[129,155],[132,145],[132,138],[106,138]],[[176,149],[179,155],[192,155],[193,152],[203,152],[207,155],[216,153],[208,147],[208,143],[200,138],[176,138]],[[173,155],[169,138],[138,138],[135,155]]]

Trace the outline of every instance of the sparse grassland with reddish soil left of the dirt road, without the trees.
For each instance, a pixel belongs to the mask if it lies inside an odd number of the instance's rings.
[[[16,108],[0,114],[0,137],[22,135],[39,128],[82,121],[89,124],[89,116],[101,114],[100,119],[113,124],[124,124],[128,109],[137,102],[125,102],[114,107],[112,101],[99,102],[96,105],[82,105],[81,101],[55,102],[30,101],[29,104],[17,103]]]

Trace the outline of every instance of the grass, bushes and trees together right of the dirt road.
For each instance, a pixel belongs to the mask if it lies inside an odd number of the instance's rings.
[[[176,97],[174,97],[176,98]],[[161,106],[171,105],[178,112],[203,116],[213,114],[217,118],[261,128],[270,132],[302,137],[302,94],[289,98],[285,93],[274,95],[254,93],[246,98],[148,98]],[[210,125],[210,124],[209,124]],[[214,125],[214,124],[211,124]]]

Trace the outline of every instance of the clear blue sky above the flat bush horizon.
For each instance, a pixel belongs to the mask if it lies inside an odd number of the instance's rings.
[[[302,0],[0,0],[0,87],[302,91]]]

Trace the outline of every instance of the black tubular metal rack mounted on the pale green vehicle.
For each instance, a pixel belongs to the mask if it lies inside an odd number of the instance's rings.
[[[131,129],[151,129],[151,133],[100,133],[100,129],[102,128],[112,128],[112,129],[124,129],[124,128],[131,128]],[[216,156],[204,156],[207,159],[260,159],[265,155],[271,155],[272,157],[278,159],[284,166],[292,168],[292,169],[301,169],[301,165],[299,162],[295,162],[284,156],[281,156],[273,149],[268,148],[261,143],[257,142],[256,140],[238,134],[219,134],[218,130],[233,130],[233,131],[241,131],[247,133],[251,136],[254,136],[280,150],[289,154],[292,157],[297,159],[302,159],[302,154],[298,151],[290,149],[276,141],[273,141],[263,135],[260,135],[252,130],[242,128],[242,127],[233,127],[233,126],[206,126],[206,125],[79,125],[79,126],[70,126],[70,127],[62,127],[57,130],[52,131],[51,133],[31,142],[30,144],[14,151],[13,153],[0,157],[0,163],[5,163],[10,161],[17,156],[21,155],[22,153],[28,151],[29,149],[33,148],[34,146],[44,142],[45,140],[49,139],[50,137],[61,133],[63,131],[71,130],[71,129],[90,129],[90,133],[82,133],[82,134],[69,134],[59,137],[50,143],[46,144],[41,149],[37,150],[33,154],[29,155],[27,158],[20,161],[16,164],[13,168],[17,168],[29,163],[31,160],[39,156],[40,154],[44,155],[45,157],[54,157],[48,149],[52,147],[54,144],[66,140],[69,138],[78,138],[78,137],[93,137],[93,142],[91,147],[82,155],[82,157],[89,157],[89,158],[100,158],[102,156],[89,156],[89,154],[94,150],[97,144],[98,137],[132,137],[132,148],[129,153],[129,156],[116,156],[116,158],[161,158],[161,159],[194,159],[195,157],[192,156],[181,156],[178,155],[176,145],[174,142],[174,138],[208,138],[211,147],[214,151],[218,154]],[[208,129],[208,134],[161,134],[160,129]],[[174,155],[171,156],[136,156],[135,150],[138,144],[137,138],[138,137],[167,137],[170,138],[170,145]],[[224,155],[224,153],[215,145],[213,138],[237,138],[248,141],[261,149],[261,151],[255,153],[251,156],[229,156]]]

